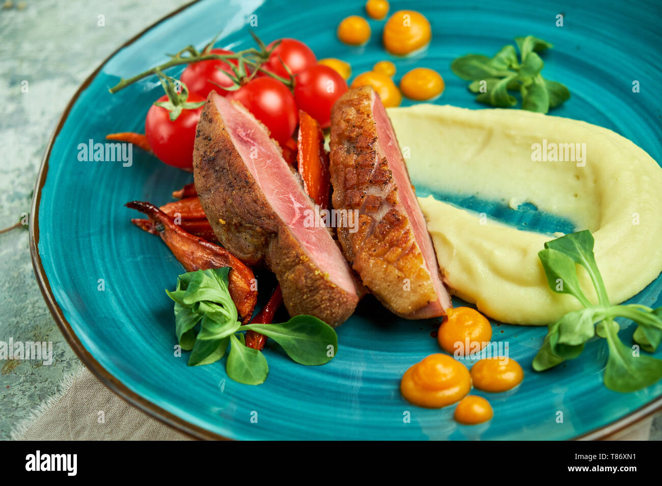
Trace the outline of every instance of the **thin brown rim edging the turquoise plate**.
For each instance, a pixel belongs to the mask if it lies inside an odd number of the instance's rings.
[[[66,105],[66,108],[64,109],[64,112],[62,112],[62,115],[58,120],[58,124],[56,125],[53,134],[50,136],[50,139],[46,144],[44,157],[42,158],[42,162],[39,167],[39,171],[37,175],[37,180],[35,182],[34,192],[32,196],[32,205],[30,209],[30,218],[29,218],[30,257],[32,259],[32,268],[34,270],[36,281],[41,291],[42,297],[44,298],[44,301],[46,302],[46,305],[48,306],[48,309],[54,321],[56,321],[58,327],[60,328],[60,331],[62,332],[64,339],[66,339],[67,343],[69,344],[73,352],[75,352],[76,356],[81,360],[81,362],[85,364],[87,369],[90,370],[92,374],[94,374],[103,385],[105,385],[108,389],[110,389],[113,393],[115,393],[115,395],[126,401],[126,403],[129,403],[130,405],[143,411],[153,419],[156,419],[161,423],[163,423],[164,425],[174,428],[175,430],[178,430],[179,432],[182,432],[183,434],[191,438],[202,439],[202,440],[234,440],[232,438],[228,438],[220,434],[216,434],[215,432],[211,432],[211,430],[207,430],[206,428],[203,428],[201,426],[195,425],[189,421],[186,421],[185,419],[182,419],[181,417],[178,417],[177,415],[174,415],[173,413],[170,413],[166,409],[159,407],[158,405],[156,405],[156,403],[153,403],[152,401],[142,397],[141,395],[138,395],[138,393],[129,389],[127,385],[120,382],[120,380],[115,378],[113,374],[111,374],[108,370],[106,370],[103,366],[101,366],[101,364],[94,358],[94,356],[92,356],[92,354],[85,348],[85,346],[83,346],[83,343],[81,343],[81,341],[78,339],[70,323],[67,321],[66,317],[64,317],[64,313],[62,313],[62,309],[60,309],[60,305],[58,304],[51,290],[50,282],[48,281],[48,276],[46,276],[46,271],[42,266],[42,261],[39,255],[39,247],[38,247],[39,236],[40,236],[38,212],[41,202],[41,191],[44,186],[44,183],[46,182],[46,176],[48,175],[48,162],[50,160],[50,155],[53,149],[54,142],[58,137],[58,135],[60,134],[60,131],[62,130],[62,127],[64,126],[66,120],[68,119],[71,108],[73,108],[75,102],[78,101],[78,98],[80,97],[81,93],[83,93],[83,91],[85,91],[85,89],[89,87],[89,85],[92,83],[95,77],[97,77],[101,69],[103,69],[103,67],[108,63],[108,61],[110,61],[113,57],[115,57],[118,54],[118,52],[120,52],[120,50],[130,46],[131,44],[136,42],[136,40],[144,36],[144,34],[152,30],[152,28],[155,28],[156,26],[162,24],[162,22],[164,22],[167,19],[170,19],[171,17],[175,17],[175,15],[178,15],[182,11],[185,11],[195,3],[199,3],[199,1],[201,0],[192,0],[189,1],[188,3],[185,3],[184,5],[181,5],[181,7],[175,9],[174,11],[171,11],[165,17],[156,20],[156,22],[153,22],[152,24],[148,25],[146,28],[140,30],[140,32],[138,32],[132,38],[124,42],[124,44],[120,45],[117,49],[111,52],[111,54],[109,54],[109,56],[107,56],[105,60],[101,61],[99,66],[97,66],[97,68],[89,76],[87,76],[87,78],[85,78],[85,81],[83,81],[83,83],[78,87],[78,89],[71,97],[70,101]],[[575,436],[571,438],[571,440],[608,439],[610,438],[610,436],[614,436],[615,434],[620,434],[621,432],[625,432],[632,428],[636,428],[636,426],[638,426],[639,423],[641,423],[642,421],[644,421],[649,417],[652,417],[659,411],[662,411],[662,395],[655,399],[652,399],[648,403],[645,403],[638,409],[628,413],[628,415],[625,415],[624,417],[621,417],[616,421],[594,428],[593,430],[590,430],[589,432],[585,432],[584,434],[581,434],[579,436]]]

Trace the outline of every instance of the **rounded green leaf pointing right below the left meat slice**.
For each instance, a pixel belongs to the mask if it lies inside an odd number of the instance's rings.
[[[338,351],[336,331],[312,315],[295,315],[282,324],[247,324],[244,328],[270,337],[300,364],[324,364]]]

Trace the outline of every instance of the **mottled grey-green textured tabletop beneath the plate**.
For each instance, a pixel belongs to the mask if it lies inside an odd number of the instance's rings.
[[[16,8],[19,3],[24,9]],[[23,0],[0,9],[0,228],[30,211],[46,143],[77,87],[120,44],[183,3]],[[22,81],[28,81],[27,93]],[[0,309],[0,341],[54,343],[50,366],[0,361],[0,439],[7,439],[12,425],[52,395],[79,362],[42,300],[26,228],[0,235]],[[651,439],[662,439],[661,417]]]

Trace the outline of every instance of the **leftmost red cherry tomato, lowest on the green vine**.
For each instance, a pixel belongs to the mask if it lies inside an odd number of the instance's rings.
[[[163,95],[157,101],[167,101],[167,96]],[[205,98],[189,93],[187,101],[195,103],[205,101]],[[145,135],[156,157],[179,169],[193,168],[195,126],[202,110],[203,106],[181,110],[177,120],[171,122],[166,108],[152,104],[145,118]]]

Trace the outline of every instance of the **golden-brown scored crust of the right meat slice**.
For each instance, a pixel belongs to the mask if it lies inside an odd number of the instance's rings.
[[[338,240],[363,284],[393,313],[416,319],[438,300],[389,162],[377,155],[371,87],[345,93],[331,113],[330,172],[336,209],[359,210],[359,229]],[[375,93],[375,96],[378,96]]]

